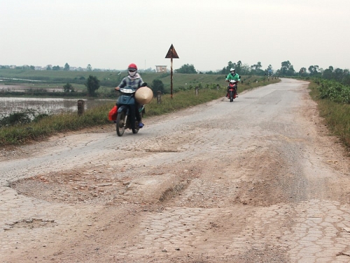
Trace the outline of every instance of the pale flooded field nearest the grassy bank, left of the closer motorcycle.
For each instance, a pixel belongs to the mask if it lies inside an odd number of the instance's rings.
[[[113,104],[116,100],[86,99],[85,110],[104,105]],[[0,97],[0,118],[13,112],[24,110],[36,110],[40,114],[57,114],[59,112],[78,111],[78,99],[76,98],[16,98]]]

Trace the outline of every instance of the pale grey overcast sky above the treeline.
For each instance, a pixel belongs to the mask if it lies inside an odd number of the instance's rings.
[[[0,65],[350,68],[349,0],[0,0]]]

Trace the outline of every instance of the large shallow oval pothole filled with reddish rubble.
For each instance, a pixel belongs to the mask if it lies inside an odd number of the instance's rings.
[[[21,195],[66,204],[106,204],[125,192],[121,179],[83,172],[41,174],[14,181],[10,187]]]

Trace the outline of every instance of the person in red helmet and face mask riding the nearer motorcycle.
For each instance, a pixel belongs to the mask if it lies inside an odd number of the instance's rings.
[[[123,89],[125,87],[131,87],[134,90],[139,89],[140,87],[143,87],[145,84],[144,80],[142,80],[141,76],[137,72],[137,66],[134,63],[131,63],[127,67],[127,77],[124,77],[123,80],[120,82],[118,87],[114,88],[116,91],[119,91],[120,89]],[[119,105],[117,104],[117,107]],[[142,123],[141,114],[139,112],[139,103],[135,103],[134,113],[137,121],[139,122],[139,128],[144,127],[144,123]]]

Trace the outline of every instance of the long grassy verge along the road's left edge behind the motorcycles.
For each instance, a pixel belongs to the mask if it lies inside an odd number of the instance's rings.
[[[193,75],[197,77],[197,75]],[[279,82],[279,79],[266,77],[242,77],[243,84],[239,84],[239,92],[253,89],[267,84]],[[195,87],[199,88],[198,95]],[[154,98],[146,105],[145,118],[167,114],[186,107],[199,105],[211,100],[223,98],[226,95],[226,84],[221,77],[221,85],[217,83],[202,84],[188,79],[188,85],[177,87],[171,98],[170,94],[162,94],[161,103]],[[116,94],[114,93],[114,96]],[[99,107],[86,110],[82,116],[76,112],[67,112],[54,115],[35,114],[35,112],[13,113],[0,119],[0,146],[25,144],[44,140],[55,133],[80,130],[93,126],[114,125],[108,119],[108,113],[114,103],[106,103]],[[30,115],[29,115],[30,114]]]

